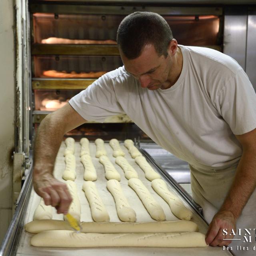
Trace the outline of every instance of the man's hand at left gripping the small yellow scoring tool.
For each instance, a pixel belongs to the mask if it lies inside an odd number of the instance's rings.
[[[52,205],[57,213],[68,213],[72,197],[65,183],[58,181],[52,174],[44,173],[33,177],[34,190],[44,199],[46,205]]]

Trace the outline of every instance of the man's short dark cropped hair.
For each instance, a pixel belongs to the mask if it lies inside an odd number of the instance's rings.
[[[146,44],[153,44],[159,56],[167,54],[173,39],[166,20],[154,12],[134,12],[126,16],[117,30],[117,44],[128,59],[140,56]]]

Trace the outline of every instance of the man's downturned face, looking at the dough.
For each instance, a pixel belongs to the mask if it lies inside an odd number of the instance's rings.
[[[149,90],[167,89],[168,75],[171,70],[171,56],[158,56],[154,46],[147,44],[136,59],[129,60],[120,50],[125,69],[140,81],[142,88]]]

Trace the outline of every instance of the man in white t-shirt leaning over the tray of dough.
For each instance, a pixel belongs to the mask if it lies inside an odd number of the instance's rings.
[[[124,18],[117,42],[124,66],[41,123],[36,192],[66,213],[70,195],[52,176],[63,135],[86,120],[127,113],[152,140],[190,164],[194,200],[212,220],[206,242],[228,245],[231,240],[223,239],[233,238],[230,232],[242,210],[252,214],[255,209],[256,95],[248,77],[225,54],[178,45],[158,14],[135,12]]]

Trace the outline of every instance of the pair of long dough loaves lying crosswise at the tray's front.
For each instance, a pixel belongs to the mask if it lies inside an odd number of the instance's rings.
[[[70,231],[69,224],[62,220],[41,220],[27,223],[25,230],[36,234],[32,237],[31,244],[40,247],[207,246],[205,235],[196,232],[197,224],[186,220],[139,223],[83,222],[81,226],[81,233],[76,233]]]

